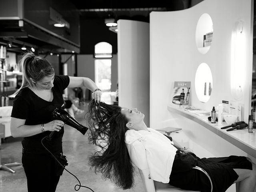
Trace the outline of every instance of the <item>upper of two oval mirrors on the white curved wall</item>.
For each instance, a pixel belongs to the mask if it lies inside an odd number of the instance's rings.
[[[210,49],[213,38],[212,18],[204,13],[200,16],[196,25],[196,46],[200,53],[206,54]]]

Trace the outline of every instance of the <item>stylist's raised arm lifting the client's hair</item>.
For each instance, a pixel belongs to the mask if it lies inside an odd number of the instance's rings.
[[[70,82],[68,84],[68,88],[86,87],[92,91],[92,99],[94,99],[95,101],[97,100],[97,102],[100,102],[102,92],[100,89],[96,90],[96,89],[98,89],[98,87],[90,78],[69,77],[69,79],[70,79]]]

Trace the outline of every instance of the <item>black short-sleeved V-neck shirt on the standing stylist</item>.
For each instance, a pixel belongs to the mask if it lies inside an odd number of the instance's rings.
[[[68,76],[55,76],[54,87],[52,88],[53,100],[48,102],[38,97],[30,88],[22,88],[15,96],[12,108],[11,117],[26,119],[25,125],[41,125],[54,120],[52,112],[55,108],[64,109],[64,100],[62,97],[63,90],[69,84]],[[41,130],[41,126],[38,126]],[[36,154],[49,154],[49,152],[42,146],[41,140],[50,134],[50,131],[45,131],[34,136],[24,137],[22,146],[27,152]],[[59,132],[55,132],[52,140],[43,140],[43,144],[56,154],[62,152],[62,136],[64,128]]]

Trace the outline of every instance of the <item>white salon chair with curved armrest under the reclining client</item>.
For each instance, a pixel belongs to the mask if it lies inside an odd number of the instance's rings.
[[[146,158],[146,150],[143,144],[139,141],[135,141],[132,144],[126,144],[132,163],[138,168],[140,172],[140,177],[142,178],[142,183],[145,192],[195,192],[190,190],[183,190],[168,183],[162,183],[154,181],[150,178],[150,172],[148,168],[148,162]],[[211,184],[212,192],[212,181],[208,173],[202,168],[196,166],[194,169],[203,172],[206,177],[208,177]]]

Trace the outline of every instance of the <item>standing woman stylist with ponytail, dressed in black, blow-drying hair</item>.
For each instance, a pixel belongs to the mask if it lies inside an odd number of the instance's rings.
[[[22,85],[16,92],[11,115],[13,137],[23,137],[22,166],[28,192],[55,192],[60,175],[58,164],[42,146],[41,140],[56,131],[52,140],[43,140],[52,154],[62,153],[64,122],[54,120],[55,108],[64,109],[62,92],[65,88],[86,87],[92,99],[100,102],[102,92],[86,77],[55,76],[46,59],[27,53],[21,60]]]

